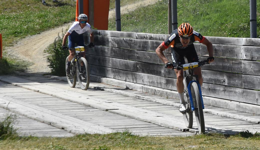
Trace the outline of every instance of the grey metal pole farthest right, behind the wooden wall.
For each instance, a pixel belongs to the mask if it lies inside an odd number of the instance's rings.
[[[250,0],[250,37],[256,38],[256,0]]]

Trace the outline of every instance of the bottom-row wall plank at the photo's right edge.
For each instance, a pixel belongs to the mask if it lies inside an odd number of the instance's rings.
[[[260,105],[260,91],[244,89],[243,102]]]

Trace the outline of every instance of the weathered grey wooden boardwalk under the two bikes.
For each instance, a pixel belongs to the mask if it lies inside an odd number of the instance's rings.
[[[62,80],[62,78],[60,79]],[[70,88],[66,81],[43,76],[23,76],[19,78],[1,76],[0,80],[4,81],[0,82],[0,98],[4,99],[3,101],[15,102],[17,103],[17,106],[19,104],[23,106],[28,105],[31,106],[31,108],[35,107],[46,114],[51,114],[50,112],[53,112],[55,116],[58,116],[61,119],[64,119],[67,116],[70,120],[77,120],[81,122],[81,124],[89,123],[90,127],[99,126],[99,129],[103,131],[129,131],[132,134],[141,136],[189,136],[194,135],[197,130],[196,121],[194,120],[194,128],[190,129],[191,132],[180,131],[180,129],[186,127],[183,125],[182,114],[179,113],[178,107],[176,107],[179,100],[134,90],[126,90],[99,82],[91,82],[90,88],[87,91],[83,91],[77,85],[76,88]],[[16,84],[16,86],[7,82],[12,82],[13,84]],[[32,90],[32,87],[35,89]],[[41,90],[41,88],[44,88],[44,90]],[[53,93],[48,94],[45,92]],[[62,95],[59,96],[59,93],[62,93]],[[76,97],[74,100],[66,98],[66,94],[75,94],[79,96],[79,98]],[[80,101],[83,97],[86,98],[84,101],[89,102],[88,104]],[[150,100],[156,100],[157,102]],[[168,101],[172,102],[172,105],[164,103]],[[93,104],[92,102],[96,103]],[[101,107],[101,105],[106,109]],[[1,107],[4,107],[4,105],[1,105]],[[118,110],[117,107],[123,107],[124,111]],[[51,123],[44,123],[46,121],[44,121],[41,116],[37,116],[40,119],[36,121],[30,119],[34,117],[30,112],[23,112],[22,109],[18,111],[18,108],[15,109],[15,107],[14,109],[7,107],[9,110],[6,110],[6,107],[4,108],[1,108],[0,113],[12,112],[18,114],[17,112],[20,112],[19,115],[17,115],[17,119],[20,123],[18,122],[16,127],[19,127],[18,131],[21,135],[73,136],[75,133],[80,133],[73,132],[71,128],[64,128],[64,125],[61,124],[62,122],[60,122],[60,124],[56,122],[56,125],[54,123],[54,125],[49,125]],[[236,116],[239,115],[249,118],[249,120],[260,120],[259,115],[213,106],[205,106],[205,108],[207,110],[225,112]],[[156,120],[156,118],[158,118],[158,120]],[[259,122],[248,122],[243,119],[227,118],[210,113],[204,113],[204,118],[207,132],[236,133],[243,130],[249,130],[250,132],[260,131]],[[33,121],[34,123],[30,123]],[[171,126],[171,121],[175,121],[177,124]],[[170,123],[167,124],[167,122]],[[81,125],[77,126],[81,127]]]

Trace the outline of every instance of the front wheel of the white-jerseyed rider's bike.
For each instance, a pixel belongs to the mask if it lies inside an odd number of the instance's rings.
[[[88,62],[84,57],[80,57],[78,63],[79,65],[83,63],[83,67],[80,67],[77,70],[79,85],[82,90],[87,90],[89,86],[89,80],[90,80]]]

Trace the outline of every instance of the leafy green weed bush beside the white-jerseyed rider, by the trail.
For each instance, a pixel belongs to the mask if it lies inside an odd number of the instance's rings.
[[[66,76],[65,61],[69,55],[69,51],[62,49],[63,37],[64,32],[62,30],[61,35],[55,38],[54,43],[44,50],[44,53],[48,53],[47,62],[49,63],[48,67],[51,69],[51,74],[57,76]]]

